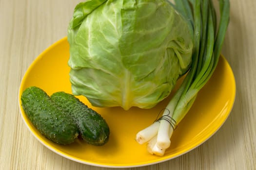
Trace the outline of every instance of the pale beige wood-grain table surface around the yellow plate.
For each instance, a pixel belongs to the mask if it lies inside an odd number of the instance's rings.
[[[67,35],[80,0],[0,0],[0,170],[108,170],[63,158],[27,129],[19,111],[26,69]],[[233,110],[217,133],[175,159],[129,170],[256,170],[256,0],[230,0],[222,53],[236,78]]]

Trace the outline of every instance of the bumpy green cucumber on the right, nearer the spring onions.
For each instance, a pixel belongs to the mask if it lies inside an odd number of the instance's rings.
[[[56,92],[51,96],[62,110],[70,114],[79,127],[83,140],[92,145],[103,145],[109,139],[109,126],[96,111],[88,108],[72,94]]]

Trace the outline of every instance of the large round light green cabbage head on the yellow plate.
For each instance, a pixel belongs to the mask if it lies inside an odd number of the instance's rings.
[[[68,28],[74,95],[94,106],[152,108],[191,65],[187,22],[166,0],[88,0]]]

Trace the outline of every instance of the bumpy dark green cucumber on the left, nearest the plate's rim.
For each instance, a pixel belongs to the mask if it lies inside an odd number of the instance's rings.
[[[79,135],[76,123],[63,114],[39,87],[31,86],[21,95],[21,105],[39,132],[58,144],[70,144]]]

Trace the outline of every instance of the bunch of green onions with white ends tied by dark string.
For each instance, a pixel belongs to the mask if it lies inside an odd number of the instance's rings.
[[[171,3],[171,2],[170,2]],[[162,116],[149,127],[138,132],[139,144],[148,142],[148,152],[164,155],[170,147],[177,124],[185,117],[197,98],[197,93],[211,78],[229,24],[229,0],[219,0],[219,23],[212,0],[175,0],[171,3],[190,28],[194,38],[192,64]]]

